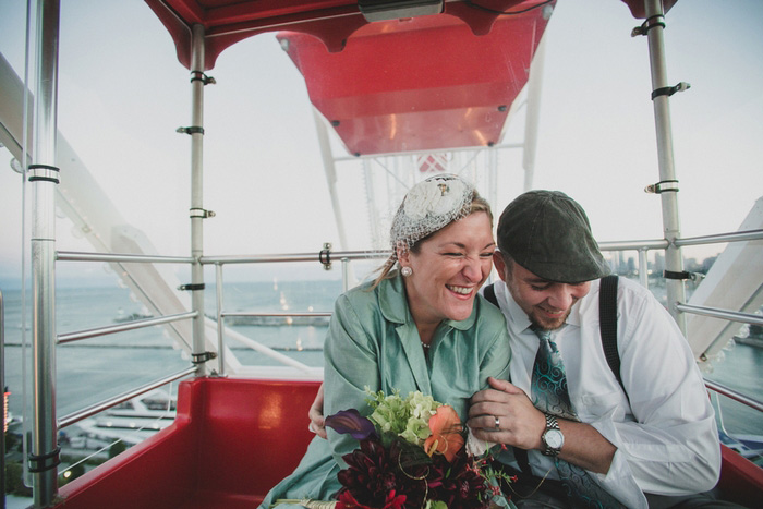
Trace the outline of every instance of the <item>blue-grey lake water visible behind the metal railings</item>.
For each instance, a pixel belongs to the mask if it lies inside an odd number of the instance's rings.
[[[227,312],[330,312],[341,292],[341,281],[266,281],[229,283],[225,292]],[[27,299],[31,292],[27,292]],[[21,292],[3,292],[5,304],[5,386],[11,391],[9,410],[22,415],[23,355],[32,348],[22,346]],[[208,316],[216,314],[214,286],[205,292]],[[146,315],[144,306],[119,287],[58,288],[56,327],[59,334],[113,325],[130,315]],[[24,329],[31,343],[31,311]],[[165,326],[146,327],[116,335],[89,338],[57,347],[56,405],[59,416],[124,393],[191,365],[184,352],[174,347]],[[325,324],[314,325],[229,325],[267,347],[308,366],[323,366]],[[278,364],[258,352],[228,340],[227,344],[244,365]],[[705,376],[754,399],[763,399],[763,349],[736,344],[725,359],[714,362]],[[27,379],[31,362],[27,361]],[[31,401],[31,400],[29,400]],[[31,408],[27,407],[27,412]],[[747,407],[723,398],[718,421],[729,433],[763,435],[763,419]]]

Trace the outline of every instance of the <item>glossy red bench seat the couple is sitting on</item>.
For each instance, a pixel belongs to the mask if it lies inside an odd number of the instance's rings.
[[[254,509],[299,463],[317,381],[184,381],[174,423],[60,490],[61,509]],[[763,500],[763,469],[723,447],[724,494]]]

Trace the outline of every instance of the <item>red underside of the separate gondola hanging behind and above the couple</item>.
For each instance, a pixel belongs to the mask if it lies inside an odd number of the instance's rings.
[[[541,10],[482,36],[448,15],[379,22],[336,53],[304,34],[278,38],[348,152],[389,154],[498,143],[546,24]]]

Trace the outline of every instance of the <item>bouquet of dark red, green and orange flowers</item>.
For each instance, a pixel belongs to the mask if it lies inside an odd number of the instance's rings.
[[[464,426],[452,407],[419,391],[368,392],[373,409],[326,417],[326,426],[349,433],[360,448],[342,459],[336,509],[482,509],[508,506],[502,472],[489,468],[489,453],[471,455]]]

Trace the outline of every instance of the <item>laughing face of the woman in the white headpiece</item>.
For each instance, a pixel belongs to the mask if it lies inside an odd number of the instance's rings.
[[[491,219],[476,211],[416,244],[415,252],[402,253],[400,265],[413,270],[404,281],[416,325],[469,318],[494,251]]]

